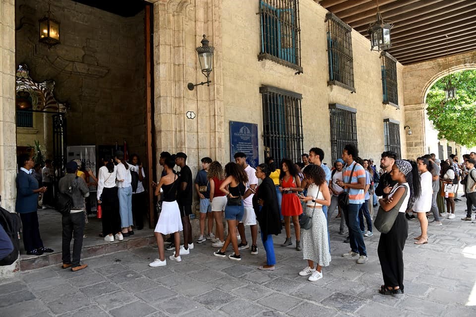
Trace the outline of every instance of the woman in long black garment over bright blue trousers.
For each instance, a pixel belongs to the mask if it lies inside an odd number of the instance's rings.
[[[261,230],[261,241],[266,251],[266,265],[259,265],[261,270],[274,270],[276,257],[274,256],[273,234],[281,233],[281,220],[273,180],[269,177],[271,170],[266,164],[256,167],[256,177],[262,180],[256,194],[253,196],[253,209]]]

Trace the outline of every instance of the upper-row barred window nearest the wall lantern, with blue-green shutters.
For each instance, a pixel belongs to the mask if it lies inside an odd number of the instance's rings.
[[[261,52],[258,59],[271,59],[302,72],[299,1],[259,0],[259,17]]]

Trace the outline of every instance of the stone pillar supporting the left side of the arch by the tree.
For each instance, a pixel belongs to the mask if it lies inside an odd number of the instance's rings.
[[[405,125],[412,129],[407,135],[407,157],[416,159],[426,153],[425,147],[425,104],[405,105]],[[405,130],[405,133],[408,129]]]

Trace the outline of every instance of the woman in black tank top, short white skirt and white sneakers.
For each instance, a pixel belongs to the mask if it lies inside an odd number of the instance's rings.
[[[176,201],[176,194],[178,188],[177,175],[174,172],[175,155],[171,156],[165,161],[164,171],[166,174],[162,176],[155,189],[155,195],[162,195],[162,211],[159,216],[159,221],[155,226],[155,238],[157,239],[157,247],[159,248],[159,259],[155,259],[149,266],[164,266],[167,265],[164,251],[164,234],[174,234],[175,239],[175,255],[169,257],[171,261],[182,261],[180,258],[180,234],[183,230],[182,220],[180,218],[179,205]]]

